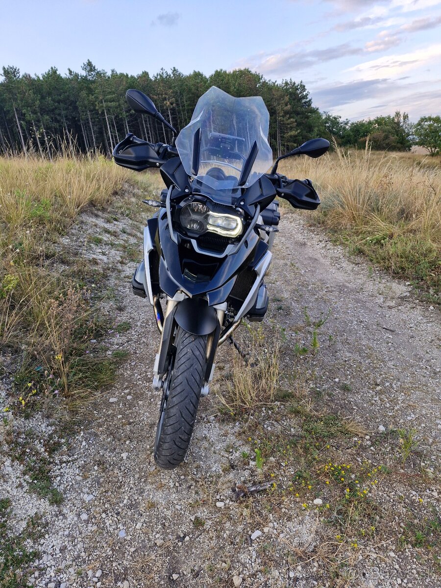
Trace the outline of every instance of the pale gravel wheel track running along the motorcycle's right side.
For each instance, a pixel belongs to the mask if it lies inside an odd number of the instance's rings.
[[[440,439],[441,316],[411,289],[358,256],[348,256],[299,215],[280,224],[268,282],[282,299],[282,323],[301,345],[305,308],[318,328],[316,387],[370,429],[415,427]],[[434,449],[435,452],[435,449]]]

